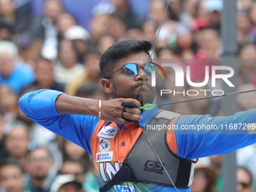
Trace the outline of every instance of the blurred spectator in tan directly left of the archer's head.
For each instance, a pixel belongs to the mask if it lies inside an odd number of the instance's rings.
[[[99,52],[87,52],[84,55],[84,70],[85,74],[81,77],[74,78],[72,81],[69,81],[69,84],[66,85],[66,93],[71,96],[75,96],[78,91],[78,88],[82,84],[90,81],[99,83],[101,80],[101,75],[99,72]]]

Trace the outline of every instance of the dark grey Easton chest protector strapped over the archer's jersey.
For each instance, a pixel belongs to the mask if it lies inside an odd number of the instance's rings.
[[[168,127],[171,128],[169,123],[179,115],[172,111],[158,113],[144,128],[144,133],[148,136],[151,144],[142,132],[125,160],[123,160],[120,170],[99,191],[106,191],[114,184],[120,184],[123,181],[153,183],[167,187],[173,187],[173,181],[175,187],[183,189],[190,187],[194,177],[194,164],[197,161],[178,157],[169,149],[166,142]],[[156,129],[157,127],[158,129]],[[159,131],[160,127],[162,130]],[[160,163],[159,159],[163,164]],[[170,181],[166,171],[172,181]]]

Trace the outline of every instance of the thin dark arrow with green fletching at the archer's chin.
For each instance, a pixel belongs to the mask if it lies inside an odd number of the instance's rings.
[[[221,96],[232,96],[232,95],[237,95],[237,94],[241,94],[241,93],[249,93],[249,92],[254,92],[254,91],[256,91],[256,90],[245,90],[245,91],[240,91],[240,92],[226,93],[226,94],[223,94]],[[179,102],[167,102],[167,103],[163,103],[163,104],[159,104],[159,105],[146,103],[142,107],[139,107],[139,109],[150,110],[152,108],[155,108],[155,107],[158,107],[158,106],[163,106],[163,105],[172,105],[172,104],[177,104],[177,103],[181,103],[181,102],[194,102],[194,101],[197,101],[197,100],[212,99],[212,98],[221,97],[221,96],[206,96],[206,97],[202,97],[202,98],[199,98],[199,99],[188,99],[188,100],[179,101]]]

